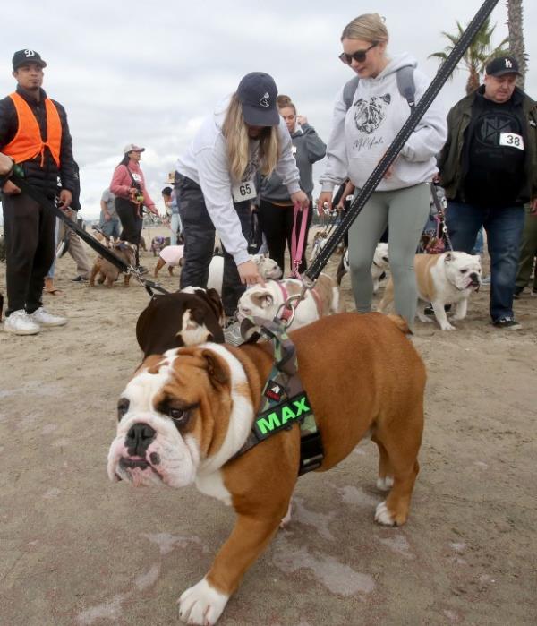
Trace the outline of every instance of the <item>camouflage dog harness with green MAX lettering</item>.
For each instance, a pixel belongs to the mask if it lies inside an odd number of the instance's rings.
[[[285,326],[277,321],[247,317],[241,322],[243,337],[252,330],[255,332],[250,342],[257,341],[261,336],[272,342],[274,365],[263,387],[260,410],[253,420],[251,433],[232,459],[281,430],[291,430],[298,423],[301,430],[298,476],[302,476],[320,467],[324,452],[310,401],[298,376],[294,343],[289,339]]]

